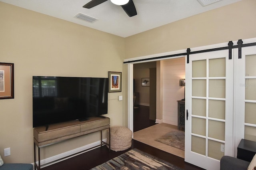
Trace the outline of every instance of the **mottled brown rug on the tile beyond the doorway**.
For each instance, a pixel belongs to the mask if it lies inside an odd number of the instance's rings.
[[[175,148],[185,150],[185,132],[184,131],[171,131],[156,139],[156,141]]]

